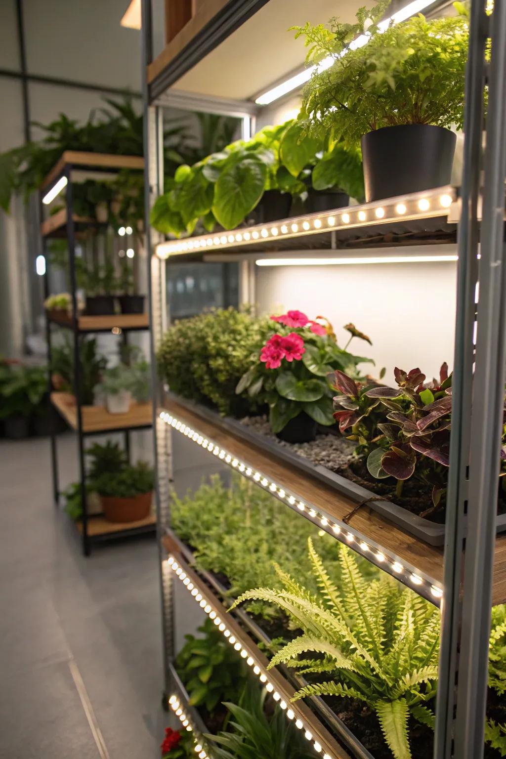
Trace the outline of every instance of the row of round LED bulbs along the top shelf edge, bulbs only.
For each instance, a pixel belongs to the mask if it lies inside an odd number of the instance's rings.
[[[442,208],[449,208],[451,206],[451,203],[453,203],[453,198],[451,195],[448,194],[442,194],[439,196],[438,203]],[[425,213],[430,209],[431,201],[429,198],[422,197],[418,202],[416,203],[417,208],[422,213]],[[405,213],[407,213],[407,205],[406,203],[397,203],[394,206],[394,211],[398,216],[404,216]],[[383,206],[377,206],[376,209],[374,209],[374,216],[376,216],[376,219],[384,219],[385,218],[385,208]],[[227,243],[234,243],[234,242],[249,242],[250,240],[259,240],[261,238],[269,238],[269,237],[278,237],[278,235],[281,233],[281,235],[288,235],[288,233],[291,234],[297,234],[300,232],[306,232],[310,231],[312,229],[321,229],[323,222],[326,222],[328,227],[335,227],[336,222],[338,225],[346,226],[347,224],[350,224],[350,222],[366,222],[368,220],[368,214],[365,209],[360,209],[357,212],[344,212],[341,213],[338,216],[327,216],[323,219],[306,219],[306,221],[300,223],[300,222],[293,222],[292,224],[281,224],[281,226],[277,227],[271,227],[270,229],[262,228],[261,230],[253,229],[253,231],[242,231],[242,232],[235,232],[230,235],[216,235],[215,237],[208,237],[208,238],[196,238],[195,240],[187,240],[184,242],[181,242],[179,244],[175,244],[174,246],[177,248],[177,250],[194,250],[199,247],[212,247],[212,246],[219,246],[219,245],[226,245]],[[370,219],[369,219],[370,220]]]

